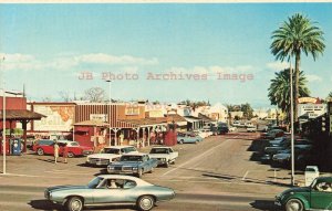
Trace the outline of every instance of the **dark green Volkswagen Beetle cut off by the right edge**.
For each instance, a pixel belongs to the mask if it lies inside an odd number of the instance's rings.
[[[309,187],[290,188],[276,197],[286,211],[332,210],[332,177],[319,177]]]

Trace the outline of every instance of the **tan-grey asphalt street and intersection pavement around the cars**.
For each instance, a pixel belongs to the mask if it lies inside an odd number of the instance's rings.
[[[288,172],[271,171],[269,166],[250,159],[252,151],[249,148],[257,136],[230,134],[209,137],[197,145],[175,146],[179,158],[174,166],[157,168],[143,177],[152,183],[170,187],[177,193],[174,200],[160,202],[154,210],[274,210],[273,197],[286,189],[282,184],[284,178],[288,179]],[[10,175],[0,176],[0,210],[61,210],[61,207],[44,201],[45,187],[84,184],[94,175],[103,172],[103,168],[85,167],[85,158],[69,161],[69,165],[54,165],[50,156],[9,157]]]

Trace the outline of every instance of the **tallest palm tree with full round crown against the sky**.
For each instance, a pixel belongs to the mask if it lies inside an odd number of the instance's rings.
[[[295,13],[273,31],[271,38],[273,41],[270,49],[276,60],[284,61],[284,59],[295,57],[294,99],[298,99],[300,96],[301,53],[307,56],[311,54],[314,61],[319,54],[323,54],[325,49],[323,31],[308,17]],[[297,119],[298,102],[294,101],[294,119]]]

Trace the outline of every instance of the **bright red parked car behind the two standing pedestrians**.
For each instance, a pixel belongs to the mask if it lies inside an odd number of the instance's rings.
[[[87,156],[93,152],[92,147],[81,146],[76,141],[70,140],[56,140],[59,145],[59,155],[63,154],[63,147],[68,147],[68,157],[72,158],[75,156]],[[35,151],[39,156],[42,155],[54,155],[54,140],[41,139],[34,143],[32,147],[33,151]]]

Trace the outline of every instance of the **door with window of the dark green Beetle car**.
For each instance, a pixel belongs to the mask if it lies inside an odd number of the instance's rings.
[[[321,187],[321,188],[319,188]],[[331,184],[322,181],[311,189],[311,209],[332,210],[332,189]]]

